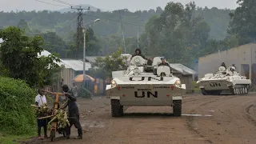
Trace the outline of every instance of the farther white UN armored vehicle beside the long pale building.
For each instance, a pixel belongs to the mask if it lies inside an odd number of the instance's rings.
[[[237,94],[248,94],[251,81],[240,75],[234,66],[226,69],[220,66],[215,74],[206,74],[197,82],[203,95],[219,95],[222,92]]]

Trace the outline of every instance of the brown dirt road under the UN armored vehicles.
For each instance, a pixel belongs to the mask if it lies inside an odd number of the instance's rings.
[[[256,94],[246,96],[186,95],[182,117],[174,118],[172,108],[129,107],[123,118],[112,118],[110,100],[78,99],[83,139],[66,140],[58,135],[54,142],[44,143],[180,143],[180,144],[255,144]],[[189,115],[189,114],[202,114]],[[204,115],[206,114],[206,115]],[[72,137],[77,131],[72,128]]]

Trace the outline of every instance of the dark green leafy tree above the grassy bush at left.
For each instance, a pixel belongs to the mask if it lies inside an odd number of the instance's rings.
[[[30,86],[49,84],[51,74],[54,74],[60,62],[58,54],[38,57],[42,52],[40,36],[27,37],[24,30],[14,26],[0,30],[3,42],[0,47],[2,66],[9,71],[9,76],[25,80]]]

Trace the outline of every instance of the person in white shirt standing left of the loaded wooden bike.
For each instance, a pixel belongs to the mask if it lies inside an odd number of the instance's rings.
[[[38,89],[38,95],[35,97],[36,106],[47,106],[46,96],[42,88]],[[41,138],[41,127],[43,126],[44,137],[47,137],[47,119],[38,119],[38,138]]]

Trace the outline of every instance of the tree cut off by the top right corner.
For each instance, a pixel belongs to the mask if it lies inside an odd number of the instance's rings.
[[[229,34],[237,34],[240,44],[256,40],[256,1],[238,0],[238,8],[230,13]]]

